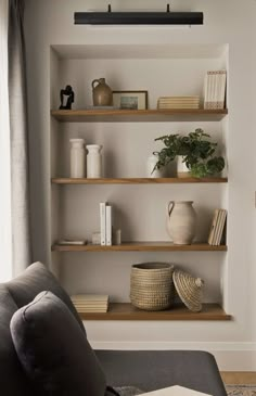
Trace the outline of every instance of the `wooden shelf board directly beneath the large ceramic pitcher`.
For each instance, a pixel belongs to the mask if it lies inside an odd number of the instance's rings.
[[[226,245],[212,246],[208,243],[192,245],[174,245],[171,242],[124,242],[121,245],[59,245],[52,246],[52,252],[226,252]]]

